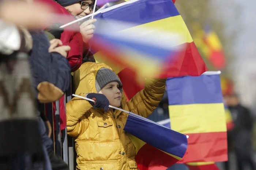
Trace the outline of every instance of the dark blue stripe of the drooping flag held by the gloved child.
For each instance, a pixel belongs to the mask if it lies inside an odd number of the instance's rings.
[[[188,147],[186,135],[131,112],[124,130],[149,145],[180,158]]]

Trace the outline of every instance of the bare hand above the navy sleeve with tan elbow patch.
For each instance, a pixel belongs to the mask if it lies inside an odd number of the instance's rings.
[[[50,44],[51,45],[50,45],[50,47],[48,49],[49,52],[58,52],[62,56],[67,58],[67,51],[69,51],[71,49],[69,46],[62,46],[63,43],[59,39],[50,40]]]

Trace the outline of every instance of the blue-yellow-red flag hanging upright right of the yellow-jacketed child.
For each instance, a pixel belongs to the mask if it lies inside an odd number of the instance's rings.
[[[171,129],[189,136],[179,163],[227,161],[227,127],[218,73],[168,78]]]

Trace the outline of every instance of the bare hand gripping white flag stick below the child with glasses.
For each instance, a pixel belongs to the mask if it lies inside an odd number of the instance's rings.
[[[88,43],[88,41],[93,37],[93,29],[95,28],[93,23],[96,21],[96,19],[90,19],[80,25],[80,33],[82,34],[83,41],[85,43]]]

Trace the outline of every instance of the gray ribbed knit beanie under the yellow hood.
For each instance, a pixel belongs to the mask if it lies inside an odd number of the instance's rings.
[[[120,79],[117,77],[117,75],[108,68],[99,69],[95,78],[95,87],[96,87],[97,93],[101,91],[101,89],[110,82],[119,83],[120,91],[122,92],[122,83]]]

